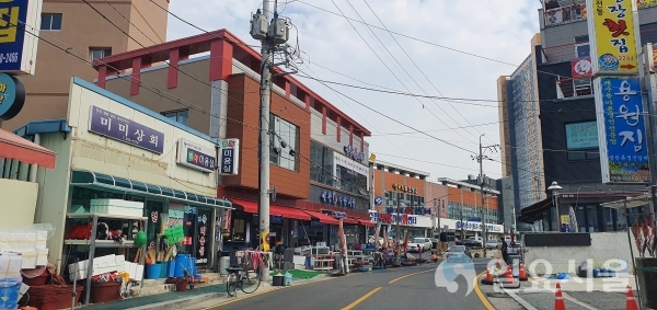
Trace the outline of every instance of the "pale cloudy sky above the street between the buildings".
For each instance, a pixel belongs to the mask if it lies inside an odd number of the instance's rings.
[[[277,8],[293,25],[288,44],[298,43],[301,50],[296,78],[372,133],[366,141],[377,160],[436,181],[479,175],[472,156],[479,153],[480,135],[484,146],[500,145],[496,80],[529,55],[540,5],[538,0],[280,0]],[[205,31],[227,28],[260,45],[249,28],[261,7],[257,0],[173,0],[170,11]],[[169,41],[199,33],[169,16]],[[499,179],[506,164],[500,152],[486,156],[493,160],[484,161],[484,174]]]

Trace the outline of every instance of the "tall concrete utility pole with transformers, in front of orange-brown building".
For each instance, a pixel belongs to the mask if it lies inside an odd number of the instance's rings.
[[[262,43],[261,62],[261,104],[260,104],[260,137],[258,137],[258,221],[260,244],[262,251],[269,250],[269,103],[272,95],[272,67],[269,57],[280,43],[288,38],[288,30],[285,20],[278,19],[276,8],[278,1],[274,1],[274,18],[269,22],[272,13],[268,0],[263,0],[263,10],[257,10],[251,20],[251,36]],[[262,271],[262,279],[269,280],[269,268],[265,264]]]

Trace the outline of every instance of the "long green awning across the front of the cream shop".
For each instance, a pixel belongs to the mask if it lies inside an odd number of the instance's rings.
[[[71,185],[83,187],[102,187],[137,195],[166,198],[172,202],[180,202],[184,204],[232,208],[232,204],[229,200],[207,197],[189,192],[162,187],[159,185],[85,170],[73,170],[71,175]]]

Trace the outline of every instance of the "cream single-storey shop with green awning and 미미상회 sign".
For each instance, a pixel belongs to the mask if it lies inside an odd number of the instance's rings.
[[[25,126],[39,128],[41,145],[58,152],[55,170],[37,172],[37,218],[56,228],[50,263],[64,274],[62,266],[90,255],[124,254],[138,263],[132,244],[143,230],[147,263],[172,260],[175,248],[198,269],[214,266],[221,220],[232,208],[215,198],[217,140],[78,78],[67,119],[58,122]],[[73,233],[94,217],[96,236]],[[168,244],[165,236],[176,227],[181,240]]]

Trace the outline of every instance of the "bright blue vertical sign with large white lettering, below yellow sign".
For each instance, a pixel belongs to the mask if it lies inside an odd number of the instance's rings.
[[[600,78],[597,97],[603,183],[650,182],[648,145],[643,116],[641,84],[637,78]]]

